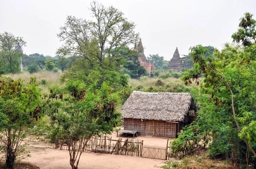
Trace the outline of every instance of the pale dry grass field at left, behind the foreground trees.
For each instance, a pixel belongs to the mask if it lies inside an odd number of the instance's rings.
[[[42,93],[48,93],[48,85],[54,85],[54,84],[60,84],[60,76],[61,72],[54,73],[52,71],[40,71],[38,73],[32,73],[30,74],[29,72],[22,72],[22,73],[17,73],[17,74],[6,74],[4,75],[6,77],[11,77],[15,80],[17,79],[23,79],[26,84],[29,83],[30,77],[35,77],[36,82],[39,83],[39,88],[41,89]],[[47,82],[47,85],[41,84],[42,79],[45,79]]]

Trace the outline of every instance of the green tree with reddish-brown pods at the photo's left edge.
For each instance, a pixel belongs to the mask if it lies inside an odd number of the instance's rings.
[[[0,143],[6,165],[13,169],[31,119],[37,120],[41,112],[41,93],[33,78],[26,87],[20,79],[0,77],[0,88]]]

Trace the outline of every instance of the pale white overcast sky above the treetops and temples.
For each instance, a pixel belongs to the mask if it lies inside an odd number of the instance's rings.
[[[256,15],[256,0],[98,0],[136,23],[145,55],[170,60],[197,44],[221,49],[232,42],[245,12]],[[90,19],[90,0],[0,0],[0,32],[23,37],[26,54],[55,56],[59,27],[67,15]],[[256,19],[256,16],[254,17]]]

